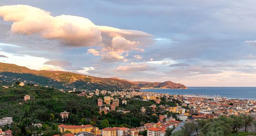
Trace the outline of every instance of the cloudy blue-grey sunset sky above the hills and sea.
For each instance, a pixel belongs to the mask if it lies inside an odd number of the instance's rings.
[[[0,1],[0,62],[186,86],[256,86],[256,1]]]

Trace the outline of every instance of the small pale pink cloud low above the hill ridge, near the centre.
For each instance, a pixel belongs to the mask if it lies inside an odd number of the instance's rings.
[[[152,70],[156,70],[156,68],[150,67],[148,64],[137,64],[132,62],[130,65],[127,65],[127,66],[119,65],[113,71],[118,73],[129,74],[129,73],[152,71]]]

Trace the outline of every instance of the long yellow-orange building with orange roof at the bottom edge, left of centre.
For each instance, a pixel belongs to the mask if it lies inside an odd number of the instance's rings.
[[[61,124],[58,126],[58,130],[63,133],[66,130],[71,131],[71,133],[78,133],[78,132],[92,132],[93,126],[91,125],[81,125],[81,126],[75,126],[75,125],[64,125]],[[96,127],[96,134],[101,134],[101,131],[98,127]]]

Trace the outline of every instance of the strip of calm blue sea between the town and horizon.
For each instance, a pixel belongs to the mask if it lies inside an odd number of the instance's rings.
[[[187,89],[141,89],[145,92],[170,95],[209,95],[227,97],[228,99],[256,100],[256,87],[187,87]]]

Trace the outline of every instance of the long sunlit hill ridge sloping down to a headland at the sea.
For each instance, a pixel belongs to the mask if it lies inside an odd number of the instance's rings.
[[[0,84],[13,84],[16,81],[55,86],[63,89],[130,90],[147,86],[154,88],[185,88],[182,84],[170,81],[166,81],[167,83],[134,82],[119,78],[99,78],[64,71],[36,71],[24,66],[0,62]]]

